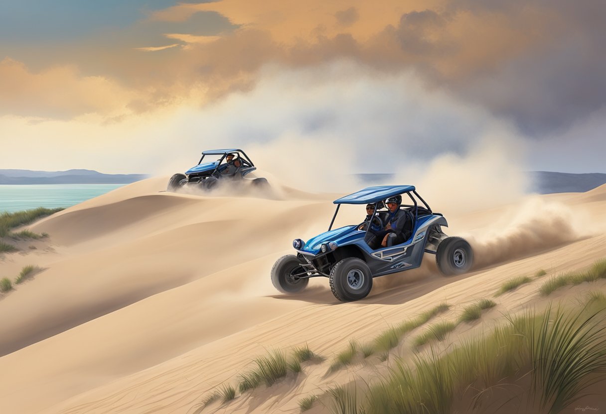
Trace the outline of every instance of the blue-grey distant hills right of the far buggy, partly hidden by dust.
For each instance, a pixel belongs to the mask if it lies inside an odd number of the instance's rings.
[[[529,171],[531,191],[539,194],[553,194],[554,192],[585,192],[606,184],[606,174],[588,173],[553,173],[551,171]],[[362,182],[376,184],[389,182],[394,174],[355,174]],[[413,184],[413,183],[404,183]]]

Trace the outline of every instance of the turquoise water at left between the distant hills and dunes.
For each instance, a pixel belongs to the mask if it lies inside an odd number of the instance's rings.
[[[0,185],[0,212],[70,207],[125,184]]]

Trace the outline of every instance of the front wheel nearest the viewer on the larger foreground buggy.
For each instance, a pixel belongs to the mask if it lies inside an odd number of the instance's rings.
[[[364,260],[344,258],[330,271],[330,290],[342,302],[365,298],[373,288],[373,276]]]

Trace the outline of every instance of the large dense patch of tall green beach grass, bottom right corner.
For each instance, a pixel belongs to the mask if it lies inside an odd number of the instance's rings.
[[[493,390],[504,386],[512,394],[508,400],[520,407],[528,402],[531,412],[561,412],[588,386],[606,380],[605,308],[604,295],[594,295],[581,309],[548,307],[508,317],[444,355],[432,350],[410,364],[397,361],[359,401],[343,388],[330,390],[332,412],[490,412],[482,404],[491,404],[498,395]],[[518,385],[522,381],[530,386]]]

